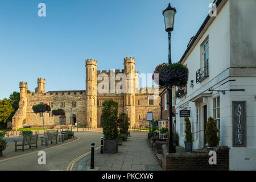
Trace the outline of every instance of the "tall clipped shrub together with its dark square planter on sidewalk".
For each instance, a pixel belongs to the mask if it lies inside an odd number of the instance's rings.
[[[102,121],[104,134],[105,153],[118,152],[118,130],[117,130],[117,113],[118,103],[113,100],[107,100],[102,103]]]

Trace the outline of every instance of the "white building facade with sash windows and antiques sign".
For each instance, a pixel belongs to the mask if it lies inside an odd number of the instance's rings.
[[[179,145],[185,140],[180,110],[190,110],[193,149],[205,146],[213,117],[220,145],[230,148],[230,170],[256,170],[256,1],[214,3],[217,16],[207,16],[180,60],[189,80],[175,105]]]

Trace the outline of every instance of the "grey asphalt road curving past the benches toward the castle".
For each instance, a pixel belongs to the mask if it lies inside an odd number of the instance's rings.
[[[79,139],[67,143],[60,144],[59,146],[51,148],[43,148],[46,152],[46,165],[38,164],[38,151],[27,151],[26,155],[20,155],[16,158],[10,158],[6,160],[0,159],[0,170],[30,170],[30,171],[49,171],[49,170],[66,170],[69,164],[79,156],[89,152],[91,150],[91,143],[95,143],[95,147],[100,146],[102,133],[85,131],[81,133],[75,133],[75,136]],[[12,146],[13,147],[13,146]],[[13,148],[14,150],[14,148]],[[17,151],[19,154],[22,151]],[[18,153],[17,153],[18,154]],[[14,156],[15,157],[15,156]],[[73,170],[77,170],[78,162],[73,164]]]

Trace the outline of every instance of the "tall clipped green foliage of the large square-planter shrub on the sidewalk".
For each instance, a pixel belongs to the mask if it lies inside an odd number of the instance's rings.
[[[102,121],[103,134],[105,139],[116,140],[118,137],[117,130],[117,113],[118,103],[113,100],[108,100],[102,103]]]

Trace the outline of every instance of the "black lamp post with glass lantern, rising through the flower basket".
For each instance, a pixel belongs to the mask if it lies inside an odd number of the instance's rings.
[[[166,31],[168,32],[168,64],[172,63],[171,59],[171,32],[174,30],[174,20],[175,20],[176,9],[171,7],[171,3],[169,3],[167,9],[163,11],[164,16],[164,24],[166,26]],[[172,85],[168,86],[168,106],[169,106],[169,153],[174,153],[174,145],[172,138]]]

